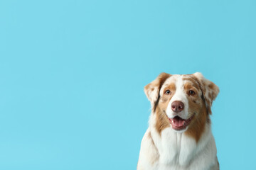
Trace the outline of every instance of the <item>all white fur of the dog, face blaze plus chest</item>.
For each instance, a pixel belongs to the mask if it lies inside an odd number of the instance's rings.
[[[188,99],[183,91],[184,81],[180,75],[174,75],[163,84],[169,84],[171,81],[176,82],[176,93],[169,102],[166,114],[169,118],[174,118],[176,113],[171,111],[173,101],[182,101],[184,110],[179,114],[181,118],[188,118]],[[161,88],[160,95],[164,94],[164,88]],[[137,170],[211,170],[218,169],[218,159],[215,140],[210,130],[210,125],[201,135],[200,140],[196,142],[193,137],[189,137],[182,132],[176,132],[171,126],[162,130],[161,135],[156,131],[156,114],[151,113],[149,118],[149,128],[142,140],[141,150],[139,153],[139,162]],[[149,135],[149,133],[151,135]],[[152,143],[152,140],[154,143]],[[159,157],[152,164],[152,158]]]

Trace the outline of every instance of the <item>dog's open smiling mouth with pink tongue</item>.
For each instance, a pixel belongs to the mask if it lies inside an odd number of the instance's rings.
[[[178,115],[176,115],[174,118],[169,118],[169,122],[171,123],[171,127],[174,130],[183,130],[191,123],[191,120],[193,119],[194,115],[195,114],[191,115],[191,117],[187,120],[180,118],[178,117]]]

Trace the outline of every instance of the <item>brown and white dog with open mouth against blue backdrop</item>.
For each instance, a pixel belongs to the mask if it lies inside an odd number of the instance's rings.
[[[219,169],[210,107],[219,88],[203,74],[161,73],[144,87],[151,103],[137,170]]]

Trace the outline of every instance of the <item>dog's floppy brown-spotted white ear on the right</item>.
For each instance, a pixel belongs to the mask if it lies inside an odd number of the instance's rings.
[[[200,72],[194,73],[193,76],[196,77],[200,83],[201,90],[203,92],[203,98],[206,102],[207,111],[211,114],[210,107],[212,106],[215,98],[218,96],[220,89],[212,81],[204,78],[203,74]]]

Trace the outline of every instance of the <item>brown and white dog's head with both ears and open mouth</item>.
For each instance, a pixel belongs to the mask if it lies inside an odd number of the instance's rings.
[[[210,122],[210,106],[219,89],[201,73],[162,73],[146,85],[144,91],[159,118],[157,121],[160,121],[161,128],[167,126],[168,122],[176,132],[185,132],[189,127],[197,130]]]

